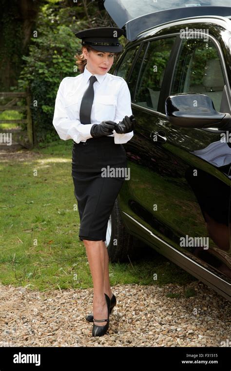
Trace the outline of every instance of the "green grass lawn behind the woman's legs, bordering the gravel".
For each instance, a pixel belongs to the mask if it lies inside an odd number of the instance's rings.
[[[93,287],[85,247],[78,238],[71,155],[72,141],[60,140],[34,149],[24,159],[1,162],[2,284],[41,291]],[[109,270],[111,286],[187,285],[195,280],[152,251],[139,261],[110,262]]]

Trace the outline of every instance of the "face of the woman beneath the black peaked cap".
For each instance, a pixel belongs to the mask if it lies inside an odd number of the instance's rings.
[[[87,60],[87,69],[93,75],[105,75],[114,63],[113,52],[103,52],[97,50],[90,50],[89,52],[85,47],[82,49],[83,55]]]

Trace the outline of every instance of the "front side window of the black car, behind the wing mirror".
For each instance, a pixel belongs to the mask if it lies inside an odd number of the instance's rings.
[[[206,94],[219,111],[224,85],[221,60],[213,42],[184,39],[176,62],[171,94]]]

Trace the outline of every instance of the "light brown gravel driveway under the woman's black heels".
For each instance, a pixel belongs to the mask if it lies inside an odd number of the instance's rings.
[[[39,292],[0,284],[0,346],[224,346],[231,340],[230,303],[201,282],[189,286],[196,292],[190,298],[175,284],[112,286],[117,305],[109,330],[92,337],[85,313],[92,312],[93,288]]]

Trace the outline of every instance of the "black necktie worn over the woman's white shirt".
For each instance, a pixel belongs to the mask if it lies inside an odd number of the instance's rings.
[[[94,100],[94,87],[93,84],[97,81],[96,76],[90,77],[90,84],[85,93],[83,94],[80,110],[79,119],[81,124],[91,124],[91,110]]]

